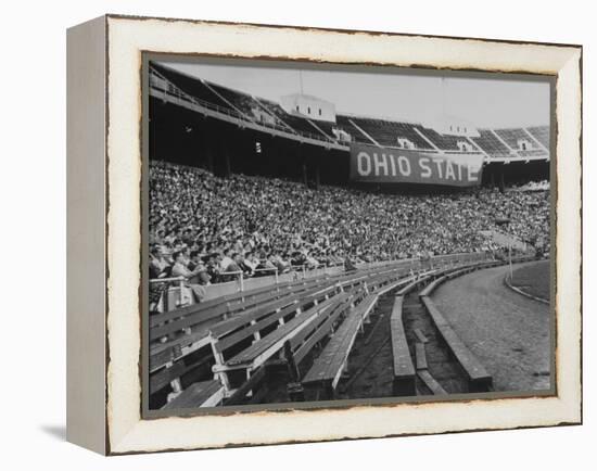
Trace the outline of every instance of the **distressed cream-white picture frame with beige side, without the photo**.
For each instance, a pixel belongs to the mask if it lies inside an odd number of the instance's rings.
[[[557,77],[556,394],[143,418],[143,52]],[[67,59],[68,441],[122,455],[581,423],[580,46],[106,15],[68,30]]]

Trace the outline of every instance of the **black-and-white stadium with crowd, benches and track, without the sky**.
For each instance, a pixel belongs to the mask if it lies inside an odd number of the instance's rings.
[[[147,93],[150,409],[551,387],[549,126]]]

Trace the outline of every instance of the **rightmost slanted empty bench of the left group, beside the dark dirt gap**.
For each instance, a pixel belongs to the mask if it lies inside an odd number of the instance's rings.
[[[376,305],[378,295],[367,295],[358,305],[353,307],[340,328],[332,335],[323,352],[316,358],[302,383],[306,386],[321,386],[329,395],[340,381],[340,375],[348,359],[358,330],[364,319]]]

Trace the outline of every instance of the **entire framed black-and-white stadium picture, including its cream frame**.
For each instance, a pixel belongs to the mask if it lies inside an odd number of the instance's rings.
[[[69,441],[581,423],[580,46],[107,15],[67,49]]]

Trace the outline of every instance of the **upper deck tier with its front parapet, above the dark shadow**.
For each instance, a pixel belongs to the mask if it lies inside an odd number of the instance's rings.
[[[441,133],[416,123],[336,115],[335,123],[287,113],[269,100],[153,64],[150,94],[163,101],[255,130],[327,149],[351,142],[436,153],[480,153],[488,163],[549,160],[549,127],[477,129],[479,136]]]

